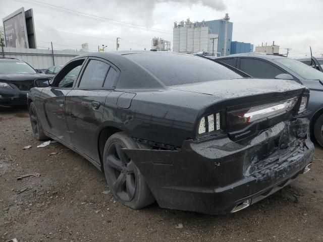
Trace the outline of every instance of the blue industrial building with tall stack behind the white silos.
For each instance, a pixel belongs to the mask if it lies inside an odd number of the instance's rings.
[[[209,27],[211,34],[219,35],[217,52],[220,52],[221,55],[229,55],[231,53],[233,23],[229,22],[229,20],[229,14],[226,14],[223,19],[197,23],[198,26],[205,24],[205,26]]]

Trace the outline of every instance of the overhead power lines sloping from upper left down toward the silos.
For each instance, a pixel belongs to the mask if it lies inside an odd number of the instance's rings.
[[[90,15],[90,14],[78,12],[75,10],[62,8],[62,7],[59,7],[56,5],[44,4],[44,3],[41,3],[38,1],[34,1],[37,3],[29,2],[27,0],[15,0],[15,1],[25,3],[25,4],[31,4],[31,5],[41,7],[41,8],[45,8],[45,9],[49,9],[49,10],[53,10],[53,11],[57,11],[57,12],[61,12],[61,13],[66,13],[66,14],[70,14],[70,15],[78,16],[78,17],[82,17],[82,18],[87,18],[87,19],[91,19],[91,20],[95,20],[95,21],[99,21],[99,22],[115,24],[115,25],[119,25],[119,26],[127,27],[127,28],[134,28],[134,29],[140,29],[140,30],[151,31],[151,32],[160,32],[160,33],[171,33],[172,32],[169,30],[146,28],[146,27],[140,26],[140,25],[134,25],[134,24],[126,23],[126,22],[111,20],[111,19],[100,17],[100,16],[96,16],[96,15]],[[50,7],[50,6],[53,6],[53,7]]]

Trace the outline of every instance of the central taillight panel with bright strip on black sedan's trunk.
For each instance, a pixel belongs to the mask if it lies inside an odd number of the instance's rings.
[[[242,129],[256,120],[286,113],[286,111],[293,109],[297,100],[298,98],[294,97],[283,102],[230,111],[227,116],[228,127],[229,129],[233,127]]]

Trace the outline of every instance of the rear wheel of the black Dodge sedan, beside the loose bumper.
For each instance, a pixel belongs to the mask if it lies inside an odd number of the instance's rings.
[[[121,150],[140,149],[126,133],[107,139],[103,151],[104,175],[113,196],[123,205],[140,209],[155,201],[135,163]]]

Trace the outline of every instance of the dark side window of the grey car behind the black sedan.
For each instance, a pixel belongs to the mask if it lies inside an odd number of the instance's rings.
[[[271,63],[252,58],[241,58],[239,69],[255,78],[275,78],[284,73]]]

